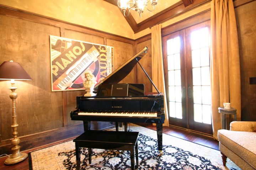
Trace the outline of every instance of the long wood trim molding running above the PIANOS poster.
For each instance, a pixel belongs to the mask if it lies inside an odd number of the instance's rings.
[[[59,19],[38,15],[33,12],[19,10],[17,8],[12,8],[12,7],[1,5],[1,4],[0,4],[0,15],[12,16],[12,17],[24,19],[27,21],[32,21],[32,22],[36,22],[36,23],[46,24],[46,25],[69,29],[69,30],[75,30],[75,31],[86,33],[86,34],[100,36],[102,38],[106,37],[108,39],[122,41],[122,42],[126,42],[129,44],[134,44],[133,39],[129,39],[129,38],[126,38],[123,36],[119,36],[119,35],[103,32],[100,30],[88,28],[85,26],[80,26],[78,24],[61,21]]]

